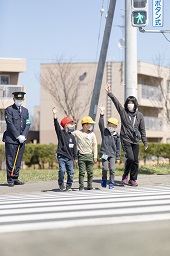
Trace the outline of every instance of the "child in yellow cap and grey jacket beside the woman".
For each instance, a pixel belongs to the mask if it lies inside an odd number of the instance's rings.
[[[119,122],[116,118],[109,118],[107,128],[104,127],[104,110],[100,108],[99,128],[102,137],[100,154],[102,158],[102,187],[107,186],[107,171],[109,169],[109,188],[114,188],[115,162],[120,163],[120,137],[115,131]],[[108,167],[109,165],[109,167]]]

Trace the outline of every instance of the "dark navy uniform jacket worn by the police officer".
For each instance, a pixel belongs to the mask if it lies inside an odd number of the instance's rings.
[[[20,113],[15,104],[7,107],[5,109],[5,121],[7,127],[3,135],[3,142],[19,144],[17,140],[19,135],[27,137],[30,128],[28,109],[21,106]]]

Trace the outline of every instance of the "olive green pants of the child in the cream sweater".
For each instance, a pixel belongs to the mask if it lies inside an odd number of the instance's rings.
[[[79,154],[78,166],[79,166],[79,186],[84,188],[84,175],[87,171],[87,187],[92,188],[93,182],[93,154]]]

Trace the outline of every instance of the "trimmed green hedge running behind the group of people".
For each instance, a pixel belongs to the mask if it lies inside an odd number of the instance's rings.
[[[23,161],[28,167],[35,168],[38,165],[39,169],[54,168],[56,166],[56,149],[57,145],[55,144],[26,144]],[[98,152],[100,150],[100,145],[98,145]],[[2,164],[5,161],[5,146],[0,145],[0,169],[2,169]],[[166,158],[170,163],[170,144],[163,143],[149,143],[148,149],[145,151],[144,146],[140,144],[140,155],[139,159],[144,160],[146,163],[146,159],[150,159],[155,156],[157,158],[157,163],[159,163],[160,157]],[[124,153],[121,150],[121,162],[123,162]],[[101,159],[98,154],[98,165],[100,167]]]

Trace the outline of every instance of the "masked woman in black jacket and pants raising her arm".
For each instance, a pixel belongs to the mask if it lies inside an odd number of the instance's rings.
[[[142,140],[145,150],[148,148],[143,115],[137,110],[138,102],[134,96],[129,96],[126,99],[123,108],[118,99],[112,94],[109,84],[105,85],[105,89],[121,118],[120,138],[126,158],[122,182],[126,185],[138,186],[137,175],[140,140]],[[129,172],[130,179],[128,181]]]

